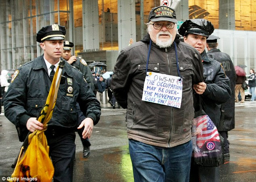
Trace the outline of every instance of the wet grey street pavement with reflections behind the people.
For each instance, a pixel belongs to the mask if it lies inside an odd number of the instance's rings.
[[[256,181],[256,102],[238,103],[235,129],[229,132],[230,157],[220,166],[220,182]],[[91,136],[91,153],[82,156],[82,143],[76,137],[74,182],[132,182],[132,165],[126,136],[125,109],[103,105],[99,123]],[[21,142],[15,127],[0,116],[0,176],[10,176],[13,158]],[[1,180],[1,179],[0,179]]]

